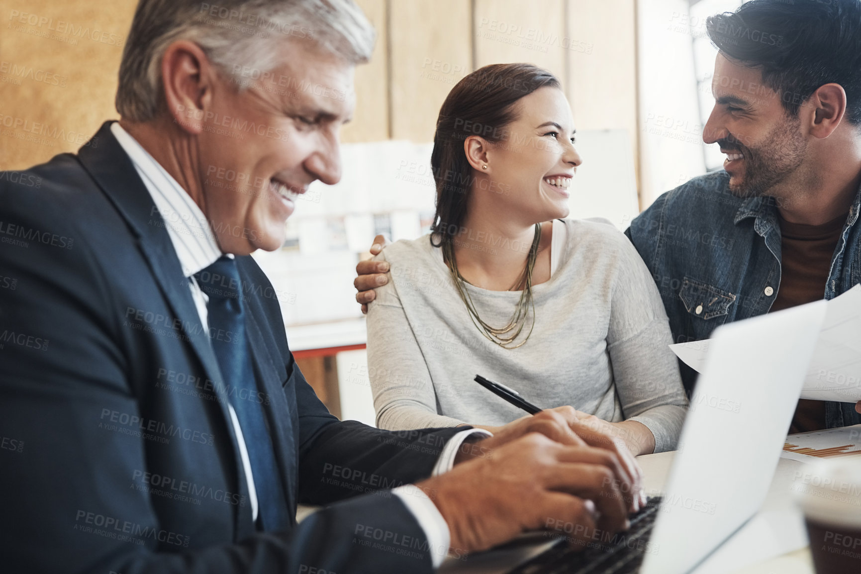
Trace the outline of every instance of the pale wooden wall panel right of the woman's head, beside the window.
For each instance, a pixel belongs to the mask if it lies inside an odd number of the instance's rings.
[[[567,0],[568,100],[578,129],[627,129],[639,187],[636,0]]]

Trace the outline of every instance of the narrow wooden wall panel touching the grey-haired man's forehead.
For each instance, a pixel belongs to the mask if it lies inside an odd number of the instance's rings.
[[[388,30],[386,0],[356,0],[377,31],[374,55],[356,67],[356,114],[344,126],[345,143],[388,139]]]

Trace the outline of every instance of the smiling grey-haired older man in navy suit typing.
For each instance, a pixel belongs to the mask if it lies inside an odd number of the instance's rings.
[[[350,0],[141,0],[121,120],[0,173],[3,571],[424,572],[625,528],[641,472],[571,410],[392,433],[296,366],[249,254],[338,182],[373,36]]]

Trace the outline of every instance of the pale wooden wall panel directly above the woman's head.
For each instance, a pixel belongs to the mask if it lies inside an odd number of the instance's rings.
[[[475,0],[475,65],[529,62],[566,85],[565,0]]]

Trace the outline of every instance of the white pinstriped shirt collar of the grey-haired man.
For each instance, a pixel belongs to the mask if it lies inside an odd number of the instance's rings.
[[[208,268],[221,256],[221,250],[206,215],[177,180],[119,122],[111,124],[110,130],[150,192],[161,216],[151,217],[150,225],[164,225],[167,228],[183,274],[190,277]],[[153,215],[155,213],[151,213]]]

